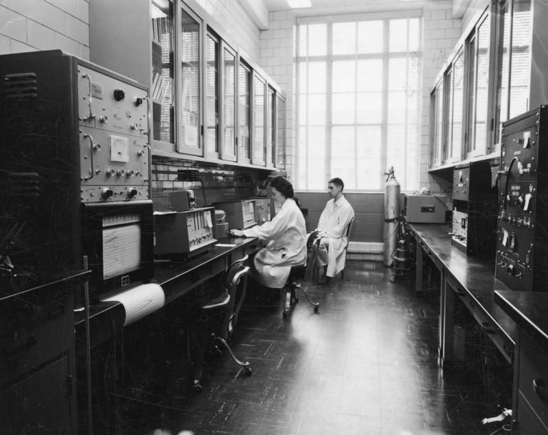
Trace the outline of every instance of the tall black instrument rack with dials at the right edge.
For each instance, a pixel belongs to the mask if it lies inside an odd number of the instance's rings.
[[[546,291],[548,108],[503,124],[495,275],[513,290]]]

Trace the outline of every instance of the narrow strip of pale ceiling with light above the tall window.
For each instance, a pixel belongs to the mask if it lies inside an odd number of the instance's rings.
[[[295,16],[356,14],[390,10],[421,9],[428,2],[438,0],[311,0],[312,8],[293,9]],[[287,0],[262,0],[269,12],[289,9]]]

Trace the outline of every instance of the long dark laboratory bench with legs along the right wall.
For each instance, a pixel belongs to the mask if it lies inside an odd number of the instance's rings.
[[[449,224],[408,223],[416,240],[416,290],[423,290],[425,256],[441,275],[438,352],[452,364],[455,295],[512,364],[512,434],[548,434],[548,293],[511,290],[495,264],[451,246]]]

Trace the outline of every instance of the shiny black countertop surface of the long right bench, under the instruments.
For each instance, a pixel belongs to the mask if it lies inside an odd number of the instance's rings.
[[[475,306],[486,316],[491,326],[501,332],[508,343],[515,345],[516,323],[495,303],[496,291],[512,291],[495,278],[495,260],[478,260],[462,253],[451,245],[451,224],[449,223],[408,223],[409,229],[416,235],[418,243],[434,257],[438,267],[443,267],[471,297]]]

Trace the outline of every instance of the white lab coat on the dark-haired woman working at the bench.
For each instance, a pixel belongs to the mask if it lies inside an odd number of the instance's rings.
[[[282,288],[291,266],[306,264],[306,225],[293,199],[286,199],[272,221],[245,229],[244,234],[268,240],[253,261],[253,276],[266,287]]]

